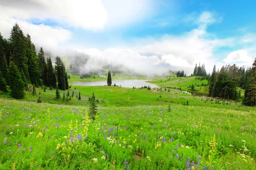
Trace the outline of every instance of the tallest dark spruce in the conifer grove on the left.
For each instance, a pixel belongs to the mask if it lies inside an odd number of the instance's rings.
[[[26,37],[23,31],[20,29],[17,23],[12,27],[11,36],[11,60],[17,66],[25,84],[30,83],[29,71],[28,71],[28,58],[26,56]]]

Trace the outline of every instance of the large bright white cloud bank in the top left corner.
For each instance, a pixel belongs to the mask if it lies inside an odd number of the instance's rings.
[[[2,13],[19,20],[54,21],[84,29],[102,29],[108,13],[101,0],[17,0],[0,2]]]

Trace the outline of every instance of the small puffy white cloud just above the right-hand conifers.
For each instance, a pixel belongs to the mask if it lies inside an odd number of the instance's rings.
[[[224,62],[227,63],[235,63],[235,62],[246,62],[250,63],[253,61],[253,58],[247,55],[247,52],[244,50],[237,50],[233,51],[230,54],[227,55],[226,58],[223,60]]]

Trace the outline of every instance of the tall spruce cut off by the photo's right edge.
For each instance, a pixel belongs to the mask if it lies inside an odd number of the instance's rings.
[[[245,89],[243,104],[247,106],[256,105],[256,58],[251,69],[249,85]]]

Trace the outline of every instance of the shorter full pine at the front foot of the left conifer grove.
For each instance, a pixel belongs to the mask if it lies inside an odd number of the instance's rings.
[[[12,61],[10,62],[10,89],[11,96],[15,99],[23,99],[25,96],[24,82],[17,66]]]

